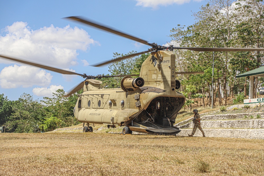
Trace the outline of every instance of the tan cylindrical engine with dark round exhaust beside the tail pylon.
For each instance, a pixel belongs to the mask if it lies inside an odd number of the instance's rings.
[[[121,80],[121,88],[123,91],[134,91],[135,89],[142,87],[144,85],[143,78],[132,78],[131,76],[125,76]]]

